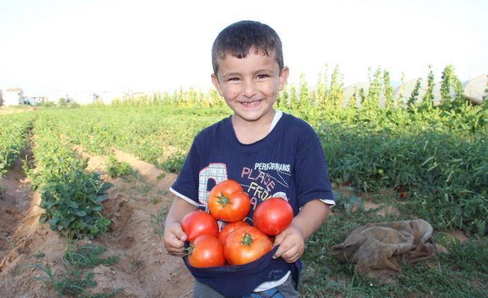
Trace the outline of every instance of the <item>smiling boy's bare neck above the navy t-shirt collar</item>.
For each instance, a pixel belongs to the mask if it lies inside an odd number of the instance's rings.
[[[232,127],[234,127],[237,140],[242,144],[252,144],[268,136],[275,114],[276,110],[271,109],[256,121],[246,121],[235,114],[232,115]]]

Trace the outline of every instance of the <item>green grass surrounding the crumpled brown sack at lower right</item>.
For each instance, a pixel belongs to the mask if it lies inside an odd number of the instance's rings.
[[[397,282],[380,285],[359,276],[353,263],[341,263],[329,252],[356,227],[381,221],[402,221],[407,216],[378,216],[360,209],[334,209],[326,223],[306,243],[301,274],[301,297],[487,297],[488,239],[472,237],[464,243],[435,231],[433,239],[449,254],[414,264],[402,264]]]

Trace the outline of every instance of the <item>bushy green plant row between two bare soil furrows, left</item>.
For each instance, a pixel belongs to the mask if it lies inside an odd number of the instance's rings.
[[[104,193],[110,184],[100,174],[85,171],[86,160],[80,159],[55,130],[54,120],[39,117],[34,122],[36,167],[28,171],[32,188],[41,194],[45,211],[41,222],[73,238],[93,238],[106,231],[111,223],[102,215]]]

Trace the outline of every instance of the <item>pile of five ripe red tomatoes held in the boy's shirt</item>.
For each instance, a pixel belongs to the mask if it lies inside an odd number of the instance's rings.
[[[251,201],[235,180],[215,185],[207,203],[209,213],[190,212],[181,223],[190,243],[188,263],[196,268],[243,265],[259,259],[272,250],[270,237],[285,230],[293,219],[287,201],[268,198],[254,210],[254,226],[243,221]],[[217,220],[226,223],[220,231]]]

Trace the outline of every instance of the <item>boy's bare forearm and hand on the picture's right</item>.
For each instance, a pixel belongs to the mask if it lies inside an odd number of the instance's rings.
[[[312,200],[303,205],[291,225],[276,235],[273,245],[280,245],[274,253],[274,259],[282,257],[286,262],[297,261],[305,250],[305,240],[310,237],[326,220],[329,205],[320,200]]]

